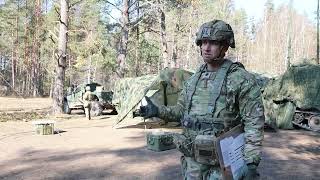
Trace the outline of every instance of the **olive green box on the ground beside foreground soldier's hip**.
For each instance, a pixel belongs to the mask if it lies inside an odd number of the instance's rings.
[[[147,134],[147,148],[152,151],[165,151],[174,149],[172,133],[150,132]]]

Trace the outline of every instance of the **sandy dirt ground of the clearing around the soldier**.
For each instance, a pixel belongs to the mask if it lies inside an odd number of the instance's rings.
[[[43,104],[38,109],[51,105],[48,99],[40,101]],[[9,103],[1,98],[0,111],[15,108],[4,102]],[[26,107],[32,110],[34,103],[30,102]],[[30,121],[0,122],[0,179],[181,179],[180,153],[175,149],[150,151],[145,141],[149,131],[179,129],[159,128],[152,123],[148,126],[151,129],[145,130],[143,125],[135,125],[139,120],[126,120],[131,126],[116,129],[116,116],[88,121],[81,111],[46,118],[56,121],[59,133],[36,135]],[[319,133],[265,133],[261,179],[320,179],[319,169]]]

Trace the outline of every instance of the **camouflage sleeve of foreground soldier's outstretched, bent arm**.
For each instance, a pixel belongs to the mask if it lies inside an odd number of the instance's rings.
[[[180,121],[186,106],[186,83],[179,94],[175,106],[160,106],[159,117],[165,121]]]

